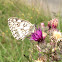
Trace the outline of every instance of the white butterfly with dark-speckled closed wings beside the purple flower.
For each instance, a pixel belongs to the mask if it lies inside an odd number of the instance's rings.
[[[30,35],[35,30],[35,25],[31,24],[29,21],[18,19],[16,17],[11,17],[8,19],[8,25],[12,32],[12,35],[17,40],[24,39]]]

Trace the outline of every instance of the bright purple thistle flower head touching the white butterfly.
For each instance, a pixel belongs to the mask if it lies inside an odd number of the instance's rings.
[[[45,38],[43,38],[42,30],[36,29],[34,33],[32,33],[30,40],[42,42]]]

